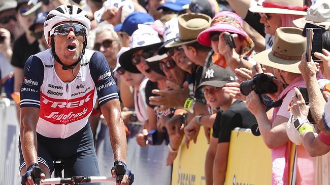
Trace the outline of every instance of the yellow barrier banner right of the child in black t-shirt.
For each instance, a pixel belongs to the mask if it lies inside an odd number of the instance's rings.
[[[261,136],[233,130],[228,156],[225,184],[271,184],[271,150]]]

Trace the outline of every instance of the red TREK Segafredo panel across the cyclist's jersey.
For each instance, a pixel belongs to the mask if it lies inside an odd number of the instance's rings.
[[[41,93],[40,118],[52,124],[69,124],[86,118],[94,107],[94,89],[74,99],[57,99]]]

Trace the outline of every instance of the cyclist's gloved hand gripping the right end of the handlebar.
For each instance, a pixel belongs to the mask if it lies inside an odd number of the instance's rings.
[[[116,178],[116,185],[130,185],[134,181],[134,173],[127,168],[122,161],[115,161],[114,167],[111,169],[113,178]]]

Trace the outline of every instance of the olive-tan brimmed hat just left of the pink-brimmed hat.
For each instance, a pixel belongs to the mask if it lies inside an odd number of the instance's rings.
[[[197,41],[197,36],[210,27],[211,17],[205,14],[182,14],[178,17],[179,37],[165,45],[165,48],[178,47]]]

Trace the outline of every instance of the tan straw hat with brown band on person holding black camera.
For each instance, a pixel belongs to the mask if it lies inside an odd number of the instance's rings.
[[[306,51],[306,37],[302,32],[300,28],[277,28],[272,48],[254,55],[253,59],[266,66],[300,74],[298,65]]]

